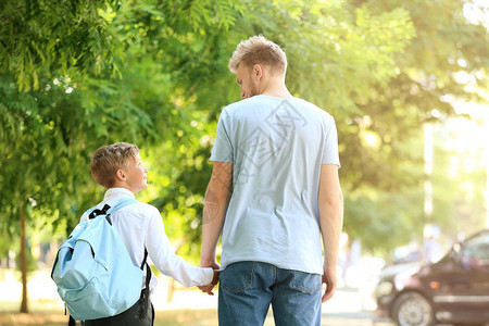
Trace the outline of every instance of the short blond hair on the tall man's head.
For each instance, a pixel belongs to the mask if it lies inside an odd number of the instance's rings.
[[[236,74],[241,62],[247,66],[256,63],[267,65],[284,75],[287,71],[287,55],[284,50],[263,35],[252,36],[236,47],[228,64],[233,74]]]

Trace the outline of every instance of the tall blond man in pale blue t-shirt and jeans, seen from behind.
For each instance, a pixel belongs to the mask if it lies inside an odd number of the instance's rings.
[[[220,324],[263,325],[272,304],[277,325],[319,325],[342,227],[335,122],[290,95],[286,54],[263,36],[240,42],[229,68],[244,100],[218,121],[201,251],[217,268],[223,233]]]

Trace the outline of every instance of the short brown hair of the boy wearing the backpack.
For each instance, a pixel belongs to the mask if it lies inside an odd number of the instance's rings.
[[[134,143],[115,142],[102,146],[93,152],[90,172],[97,184],[111,188],[117,170],[126,168],[129,160],[136,160],[139,148]]]

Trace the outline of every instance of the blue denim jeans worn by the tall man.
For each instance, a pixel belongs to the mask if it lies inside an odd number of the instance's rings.
[[[220,276],[220,325],[263,325],[272,303],[276,325],[318,326],[321,279],[261,262],[230,264]]]

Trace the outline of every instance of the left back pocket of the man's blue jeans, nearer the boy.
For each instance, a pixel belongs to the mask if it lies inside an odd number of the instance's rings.
[[[239,262],[224,268],[220,275],[221,287],[231,293],[250,289],[253,285],[254,264],[254,262]]]

